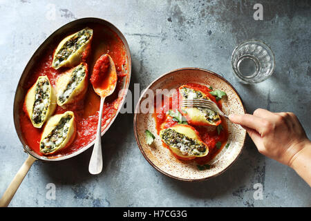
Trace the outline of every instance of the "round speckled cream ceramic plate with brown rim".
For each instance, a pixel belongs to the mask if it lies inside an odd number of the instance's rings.
[[[188,83],[212,86],[213,88],[225,91],[227,97],[223,99],[222,103],[223,112],[225,114],[245,113],[241,97],[234,87],[223,77],[209,70],[200,68],[181,68],[173,70],[153,81],[147,89],[153,90],[156,94],[156,89],[167,88],[171,90]],[[134,133],[142,155],[144,155],[146,160],[156,170],[178,180],[200,181],[223,173],[236,161],[243,149],[246,131],[241,126],[232,124],[229,120],[226,120],[229,133],[227,143],[229,146],[223,148],[213,160],[208,162],[208,164],[211,165],[210,169],[199,170],[196,162],[185,162],[176,159],[176,157],[171,154],[171,151],[162,145],[160,136],[156,131],[156,122],[152,113],[138,113],[140,104],[148,97],[146,93],[147,90],[144,90],[135,108]],[[156,136],[156,139],[150,146],[146,143],[145,131],[147,129]]]

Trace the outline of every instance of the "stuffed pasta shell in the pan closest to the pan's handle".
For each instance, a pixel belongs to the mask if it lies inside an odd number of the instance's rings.
[[[72,111],[50,117],[40,140],[40,152],[50,155],[69,146],[75,139],[75,115]]]

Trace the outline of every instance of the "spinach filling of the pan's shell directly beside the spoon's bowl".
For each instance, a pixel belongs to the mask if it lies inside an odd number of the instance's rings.
[[[59,95],[58,100],[62,104],[66,102],[66,99],[73,93],[73,90],[77,88],[78,84],[83,80],[85,75],[84,65],[81,64],[77,66],[73,70],[73,73],[71,73],[70,81],[68,82],[66,89],[62,93],[62,95]]]

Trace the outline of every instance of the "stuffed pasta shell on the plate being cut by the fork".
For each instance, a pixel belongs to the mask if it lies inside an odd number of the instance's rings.
[[[209,97],[198,88],[183,85],[178,88],[180,99],[209,99]],[[209,126],[221,123],[221,119],[215,111],[211,111],[208,108],[200,107],[187,107],[181,109],[182,115],[184,115],[190,124],[197,126]]]

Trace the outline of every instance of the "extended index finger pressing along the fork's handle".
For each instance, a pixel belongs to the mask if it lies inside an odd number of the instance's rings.
[[[261,135],[264,132],[264,129],[266,128],[266,119],[263,119],[261,117],[257,117],[254,115],[244,114],[244,115],[229,115],[229,119],[234,124],[240,124],[241,126],[245,126],[247,128],[254,129]]]

